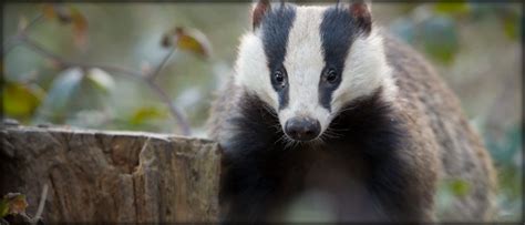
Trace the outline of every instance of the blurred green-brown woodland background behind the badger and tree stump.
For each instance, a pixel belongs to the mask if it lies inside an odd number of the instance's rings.
[[[183,134],[178,113],[193,135],[205,137],[214,92],[231,74],[239,37],[251,29],[249,9],[7,3],[2,114],[27,125]],[[522,4],[373,3],[372,13],[457,93],[498,168],[498,219],[521,219]],[[437,204],[467,188],[443,184]]]

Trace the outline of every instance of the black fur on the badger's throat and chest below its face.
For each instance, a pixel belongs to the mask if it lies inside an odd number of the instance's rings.
[[[282,207],[286,200],[308,188],[302,181],[309,168],[302,154],[308,151],[363,161],[359,166],[369,176],[347,177],[364,177],[359,182],[370,190],[371,202],[363,205],[369,207],[363,219],[416,219],[414,216],[420,214],[421,207],[406,201],[413,194],[410,171],[398,157],[398,150],[408,137],[395,112],[380,96],[381,91],[378,91],[341,110],[330,126],[339,131],[337,137],[325,137],[325,142],[315,147],[308,144],[287,147],[281,141],[284,134],[275,112],[256,95],[244,94],[238,102],[241,105],[238,116],[229,120],[240,130],[225,147],[220,201],[229,204],[230,209],[224,219],[270,219],[268,209]],[[348,165],[348,170],[352,170],[352,165]]]

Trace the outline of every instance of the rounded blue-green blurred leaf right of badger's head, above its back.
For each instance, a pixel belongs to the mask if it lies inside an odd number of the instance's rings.
[[[442,63],[451,63],[460,49],[457,29],[450,17],[437,16],[422,23],[423,45],[431,57]]]

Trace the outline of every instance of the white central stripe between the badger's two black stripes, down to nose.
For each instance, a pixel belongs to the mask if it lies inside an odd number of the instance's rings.
[[[319,104],[319,79],[325,68],[319,25],[323,7],[298,7],[294,27],[288,35],[285,68],[288,73],[289,101],[279,112],[285,124],[295,116],[319,120],[321,131],[327,129],[329,112]]]

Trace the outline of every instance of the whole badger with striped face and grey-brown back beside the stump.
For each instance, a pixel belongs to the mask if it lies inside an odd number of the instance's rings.
[[[209,119],[222,222],[286,222],[297,205],[330,222],[493,218],[495,172],[459,100],[370,7],[254,3]],[[455,180],[467,192],[437,217]]]

